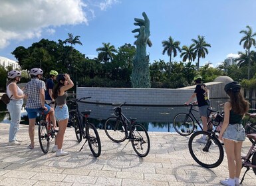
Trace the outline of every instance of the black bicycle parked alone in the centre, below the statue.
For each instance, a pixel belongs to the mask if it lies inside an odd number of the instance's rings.
[[[136,122],[136,118],[126,118],[122,113],[122,104],[112,104],[114,116],[106,119],[104,130],[110,140],[120,143],[126,139],[131,141],[134,151],[140,157],[146,157],[150,151],[150,138],[146,128]]]

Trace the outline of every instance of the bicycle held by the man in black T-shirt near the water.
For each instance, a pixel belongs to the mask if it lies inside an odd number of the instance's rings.
[[[195,110],[195,108],[193,108],[193,106],[195,105],[195,103],[190,103],[190,110],[188,113],[180,113],[177,114],[174,117],[174,122],[173,122],[173,126],[174,129],[176,130],[176,132],[178,132],[178,134],[180,134],[181,136],[189,136],[190,134],[192,134],[195,131],[195,122],[197,124],[197,126],[199,126],[199,128],[201,128],[201,130],[203,130],[203,127],[201,126],[201,124],[199,124],[199,121],[197,120],[197,118],[195,117],[194,112],[199,112],[198,110]],[[213,113],[216,112],[216,110],[210,109],[208,108],[209,113]],[[208,130],[211,130],[211,126],[207,126]]]

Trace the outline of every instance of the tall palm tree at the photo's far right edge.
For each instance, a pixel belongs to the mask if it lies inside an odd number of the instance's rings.
[[[243,48],[245,48],[245,50],[248,50],[248,54],[250,55],[250,48],[252,45],[255,46],[255,39],[253,37],[256,36],[256,33],[253,33],[253,30],[251,29],[251,27],[249,27],[248,25],[246,26],[246,28],[248,29],[246,30],[242,30],[240,31],[241,34],[244,34],[244,36],[242,37],[242,39],[239,42],[239,45],[241,45],[241,43],[243,43]],[[251,57],[249,56],[248,58],[248,80],[250,79],[250,70],[251,70]]]

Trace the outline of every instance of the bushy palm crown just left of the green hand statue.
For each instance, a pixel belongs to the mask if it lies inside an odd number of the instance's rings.
[[[98,59],[100,61],[108,62],[108,60],[113,60],[114,53],[118,52],[114,45],[110,43],[102,43],[103,47],[96,48],[98,53]]]

